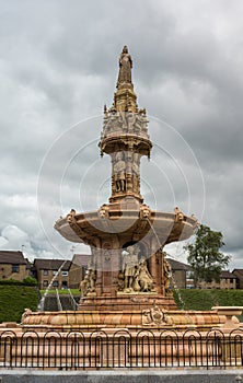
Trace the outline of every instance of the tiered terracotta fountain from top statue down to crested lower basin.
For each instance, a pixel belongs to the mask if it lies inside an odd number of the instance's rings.
[[[89,271],[80,283],[76,312],[30,312],[23,328],[187,328],[209,329],[225,317],[217,311],[176,310],[170,289],[170,265],[163,247],[188,239],[198,225],[177,207],[152,210],[140,192],[140,160],[150,158],[152,143],[144,108],[138,108],[131,80],[132,60],[125,46],[111,108],[104,107],[99,143],[112,162],[108,204],[91,212],[74,209],[55,229],[68,241],[90,246]]]

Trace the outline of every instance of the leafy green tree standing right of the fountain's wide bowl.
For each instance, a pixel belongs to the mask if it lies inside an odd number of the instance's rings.
[[[222,233],[200,224],[196,231],[195,243],[184,247],[189,252],[187,262],[192,267],[196,287],[200,281],[220,281],[221,271],[230,262],[229,255],[219,252],[222,246]]]

